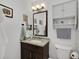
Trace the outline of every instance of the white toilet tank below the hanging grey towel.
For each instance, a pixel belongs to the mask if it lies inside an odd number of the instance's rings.
[[[70,51],[72,50],[71,47],[55,45],[57,58],[58,59],[70,59]]]

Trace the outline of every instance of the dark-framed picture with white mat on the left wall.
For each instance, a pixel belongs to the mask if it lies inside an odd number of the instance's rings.
[[[5,17],[13,18],[13,9],[12,8],[5,6],[3,4],[0,4],[0,8],[2,9]]]

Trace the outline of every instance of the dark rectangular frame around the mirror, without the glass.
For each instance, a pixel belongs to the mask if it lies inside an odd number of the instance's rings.
[[[37,15],[37,14],[41,14],[41,13],[45,13],[46,14],[46,30],[45,30],[45,35],[35,35],[34,33],[34,16]],[[33,35],[34,36],[44,36],[44,37],[47,37],[48,36],[48,11],[40,11],[40,12],[36,12],[36,13],[33,13]]]

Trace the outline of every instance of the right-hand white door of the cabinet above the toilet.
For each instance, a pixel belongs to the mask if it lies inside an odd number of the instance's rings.
[[[64,4],[64,17],[76,15],[76,0]]]

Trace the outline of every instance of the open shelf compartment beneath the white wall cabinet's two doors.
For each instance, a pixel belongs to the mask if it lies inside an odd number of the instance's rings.
[[[63,17],[63,18],[54,18],[53,25],[54,26],[76,25],[75,16]]]

